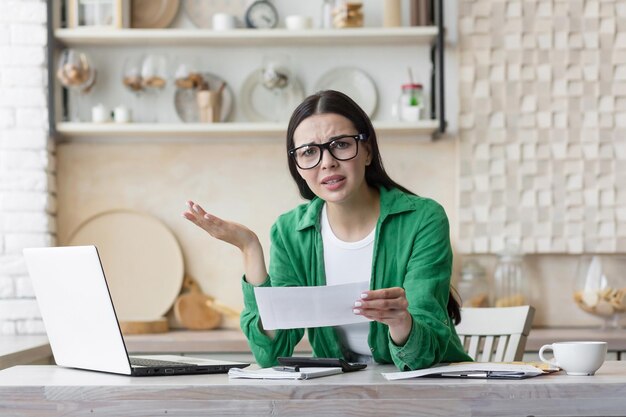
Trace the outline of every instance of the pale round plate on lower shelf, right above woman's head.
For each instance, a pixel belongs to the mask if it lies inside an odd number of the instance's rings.
[[[315,83],[315,91],[336,90],[348,95],[372,117],[378,104],[376,84],[369,75],[360,69],[333,68]]]

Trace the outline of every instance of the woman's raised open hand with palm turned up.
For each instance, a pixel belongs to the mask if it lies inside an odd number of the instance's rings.
[[[258,242],[256,234],[246,226],[215,217],[193,201],[187,201],[187,210],[183,212],[183,217],[214,238],[235,245],[242,251],[250,244]]]

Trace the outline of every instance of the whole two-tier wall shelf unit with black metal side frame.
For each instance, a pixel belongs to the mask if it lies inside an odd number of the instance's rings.
[[[333,48],[341,47],[415,47],[416,53],[423,53],[424,46],[430,49],[430,117],[429,120],[414,123],[374,122],[377,131],[396,135],[413,135],[420,140],[422,137],[431,138],[445,132],[445,103],[444,103],[444,36],[443,0],[435,0],[433,21],[431,26],[405,27],[369,27],[346,29],[306,29],[288,30],[278,29],[233,29],[228,31],[214,31],[198,28],[167,28],[167,29],[107,29],[107,28],[62,28],[61,0],[49,2],[49,19],[54,22],[48,26],[50,39],[48,48],[48,82],[52,87],[49,96],[49,122],[53,136],[60,140],[94,141],[115,140],[115,137],[141,141],[149,138],[195,138],[195,140],[220,138],[243,138],[280,136],[285,131],[283,124],[273,123],[219,123],[219,124],[90,124],[66,123],[61,120],[67,118],[68,95],[62,91],[56,80],[56,71],[53,65],[60,48],[92,48],[103,47],[120,50],[125,47],[207,47],[217,48],[246,48],[246,47],[312,47]]]

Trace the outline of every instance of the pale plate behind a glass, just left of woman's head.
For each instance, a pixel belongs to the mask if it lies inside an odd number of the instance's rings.
[[[250,122],[286,122],[304,99],[304,89],[295,76],[285,88],[268,89],[263,85],[263,69],[258,68],[241,87],[241,111]]]

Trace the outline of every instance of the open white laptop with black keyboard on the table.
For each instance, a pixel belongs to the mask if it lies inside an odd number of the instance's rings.
[[[129,356],[95,246],[24,249],[24,257],[59,366],[150,376],[226,373],[249,365],[173,355]]]

